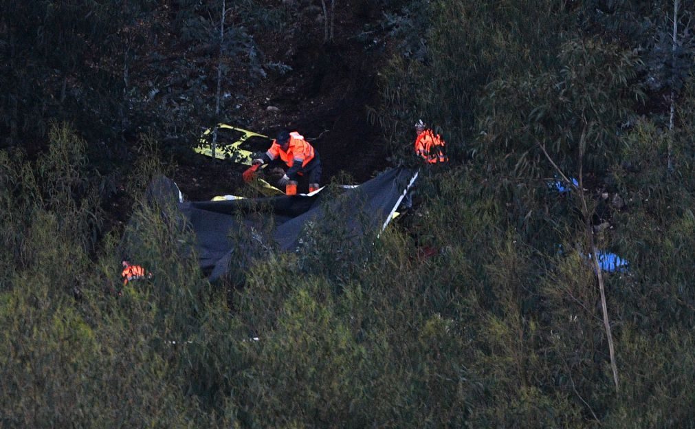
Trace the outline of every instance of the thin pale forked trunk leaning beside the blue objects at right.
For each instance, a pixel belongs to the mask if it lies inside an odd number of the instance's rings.
[[[584,195],[584,184],[583,184],[583,173],[582,173],[582,158],[584,156],[584,140],[586,140],[587,137],[587,125],[584,124],[584,129],[582,130],[582,136],[580,137],[580,154],[579,154],[579,186],[576,186],[573,184],[572,181],[567,179],[566,175],[560,170],[560,168],[557,166],[555,161],[553,161],[552,158],[550,158],[550,154],[548,154],[548,151],[546,150],[546,145],[543,145],[540,143],[538,140],[536,140],[537,145],[541,147],[541,150],[543,150],[543,154],[546,155],[546,158],[548,161],[550,161],[550,164],[553,165],[553,168],[558,172],[559,175],[562,176],[564,180],[566,180],[571,186],[573,186],[579,193],[580,200],[582,200],[582,214],[584,216],[584,222],[586,222],[585,225],[585,233],[587,234],[587,239],[589,240],[589,246],[591,247],[591,256],[594,261],[594,271],[596,271],[596,278],[598,280],[598,290],[600,291],[600,296],[601,296],[601,311],[603,312],[603,326],[605,327],[606,331],[606,337],[608,339],[608,353],[610,354],[610,366],[613,371],[613,382],[615,383],[615,390],[616,392],[620,391],[619,384],[618,384],[618,366],[616,365],[615,362],[615,351],[613,347],[613,335],[610,330],[610,320],[608,319],[608,305],[606,304],[606,295],[605,295],[605,287],[603,284],[603,275],[601,274],[601,267],[600,264],[598,264],[598,256],[596,255],[596,244],[594,243],[594,235],[591,232],[591,220],[589,218],[589,208],[587,207],[587,199]]]

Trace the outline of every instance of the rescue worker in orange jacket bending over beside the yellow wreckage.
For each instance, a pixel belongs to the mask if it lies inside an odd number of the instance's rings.
[[[272,140],[268,152],[265,152],[261,158],[254,159],[252,163],[260,165],[276,159],[280,159],[289,167],[278,181],[279,186],[286,187],[289,191],[292,185],[296,188],[299,176],[305,175],[309,179],[309,192],[318,190],[318,183],[321,180],[321,160],[316,149],[304,140],[300,133],[280,131],[277,133],[277,138]],[[287,194],[291,195],[291,192]]]

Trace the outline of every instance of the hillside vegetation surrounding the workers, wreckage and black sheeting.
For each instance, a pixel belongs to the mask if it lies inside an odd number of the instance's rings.
[[[694,6],[0,2],[0,426],[694,428]],[[366,105],[326,111],[379,138],[322,154],[419,165],[423,118],[450,161],[378,238],[330,213],[208,282],[150,179],[351,72]],[[154,277],[118,295],[124,254]]]

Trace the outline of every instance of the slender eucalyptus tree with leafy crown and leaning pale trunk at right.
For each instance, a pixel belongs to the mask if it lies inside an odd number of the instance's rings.
[[[519,200],[525,203],[515,207],[518,211],[538,213],[535,195],[557,179],[573,188],[581,214],[577,220],[583,224],[587,253],[593,259],[600,288],[617,389],[603,277],[591,228],[596,203],[587,195],[587,188],[600,185],[617,161],[620,126],[630,119],[635,99],[641,98],[641,90],[632,83],[639,60],[631,51],[612,44],[579,38],[562,46],[558,60],[561,66],[553,72],[491,84],[482,102],[485,115],[480,128],[484,136],[477,149],[493,170],[509,177],[507,186],[512,193],[521,194]]]

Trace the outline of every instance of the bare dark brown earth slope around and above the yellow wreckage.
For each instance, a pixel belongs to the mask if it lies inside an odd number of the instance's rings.
[[[259,35],[256,42],[266,60],[290,65],[292,71],[256,86],[237,76],[234,91],[243,92],[246,101],[222,115],[229,124],[268,136],[279,129],[299,131],[320,154],[322,184],[341,171],[361,183],[388,166],[382,132],[366,112],[366,106],[378,103],[377,69],[386,55],[366,51],[354,37],[379,11],[368,1],[355,3],[336,5],[332,41],[322,42],[323,27],[316,22],[300,23],[288,35]],[[234,123],[236,118],[248,125]],[[244,186],[245,168],[229,161],[192,154],[177,163],[173,179],[188,200],[208,200]]]

